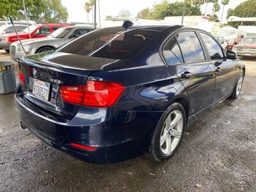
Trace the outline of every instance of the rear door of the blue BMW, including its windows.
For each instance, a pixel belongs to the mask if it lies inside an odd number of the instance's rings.
[[[195,31],[182,31],[163,48],[170,70],[175,72],[189,95],[191,115],[211,106],[215,87],[215,71]]]

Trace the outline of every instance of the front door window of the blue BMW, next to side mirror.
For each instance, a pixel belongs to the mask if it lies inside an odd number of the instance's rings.
[[[220,45],[209,35],[201,33],[202,39],[206,45],[207,51],[209,52],[211,60],[220,60],[224,58],[224,54]]]

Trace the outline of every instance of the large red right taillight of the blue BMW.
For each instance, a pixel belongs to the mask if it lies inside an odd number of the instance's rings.
[[[85,86],[61,86],[61,97],[65,102],[109,108],[124,92],[122,84],[107,81],[87,81]]]

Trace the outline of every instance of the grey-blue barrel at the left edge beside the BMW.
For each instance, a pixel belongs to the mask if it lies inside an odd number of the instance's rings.
[[[16,89],[13,61],[0,61],[0,94],[12,93]]]

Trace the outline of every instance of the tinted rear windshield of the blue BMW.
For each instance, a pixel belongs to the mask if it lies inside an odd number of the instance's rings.
[[[100,58],[130,58],[152,41],[158,32],[150,29],[99,29],[58,51]]]

